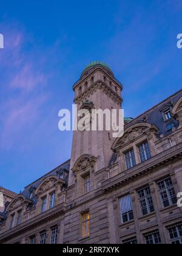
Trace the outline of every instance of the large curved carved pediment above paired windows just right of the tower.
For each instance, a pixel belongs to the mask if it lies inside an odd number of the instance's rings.
[[[138,137],[143,135],[144,132],[147,132],[147,130],[150,130],[151,132],[158,132],[156,126],[146,123],[135,124],[131,127],[128,127],[124,132],[123,137],[116,138],[112,145],[112,150],[115,151],[117,148],[121,148],[125,144],[135,141]]]

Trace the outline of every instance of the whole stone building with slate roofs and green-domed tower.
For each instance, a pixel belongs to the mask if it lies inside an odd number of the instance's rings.
[[[120,109],[123,86],[94,62],[73,85],[78,108]],[[69,161],[25,187],[4,211],[0,243],[182,243],[182,90],[124,135],[75,131]]]

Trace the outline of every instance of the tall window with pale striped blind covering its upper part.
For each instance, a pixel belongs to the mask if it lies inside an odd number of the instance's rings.
[[[120,198],[121,221],[122,223],[133,219],[133,207],[130,194]]]

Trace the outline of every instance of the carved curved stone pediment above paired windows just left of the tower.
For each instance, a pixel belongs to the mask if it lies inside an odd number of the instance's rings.
[[[59,180],[56,176],[47,177],[36,189],[35,194],[42,194],[45,191],[50,190],[50,188],[54,187],[59,181],[62,183],[62,181]]]

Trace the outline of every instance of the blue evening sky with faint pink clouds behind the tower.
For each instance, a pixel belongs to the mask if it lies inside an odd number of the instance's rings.
[[[135,117],[181,89],[181,0],[1,1],[0,185],[19,192],[70,158],[72,107],[84,66],[103,60]]]

